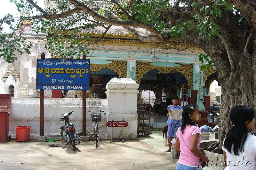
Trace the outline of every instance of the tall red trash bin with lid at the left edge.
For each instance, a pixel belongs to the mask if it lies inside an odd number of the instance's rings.
[[[10,94],[0,94],[0,142],[8,142],[11,103],[12,96]]]

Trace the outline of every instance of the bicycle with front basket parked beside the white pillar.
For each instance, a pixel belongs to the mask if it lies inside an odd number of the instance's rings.
[[[100,143],[99,143],[99,122],[101,121],[101,113],[100,112],[104,112],[103,110],[98,110],[96,113],[94,113],[93,111],[87,111],[87,112],[91,112],[91,116],[92,116],[92,122],[94,122],[93,127],[94,127],[94,133],[93,135],[93,144],[92,144],[92,148],[94,146],[94,142],[96,145],[96,148],[100,148]]]

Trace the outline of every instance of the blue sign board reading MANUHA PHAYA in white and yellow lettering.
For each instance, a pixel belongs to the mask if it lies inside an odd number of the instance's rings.
[[[37,59],[36,89],[90,90],[90,60]]]

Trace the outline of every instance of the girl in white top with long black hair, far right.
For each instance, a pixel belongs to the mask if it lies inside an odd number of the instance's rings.
[[[249,106],[235,106],[229,119],[232,122],[223,142],[224,169],[255,169],[256,136],[248,133],[254,128],[255,112]]]

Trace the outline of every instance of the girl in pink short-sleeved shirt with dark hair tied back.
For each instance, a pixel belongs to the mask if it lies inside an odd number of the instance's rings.
[[[177,131],[176,151],[180,152],[180,158],[176,170],[197,170],[201,164],[200,159],[208,162],[207,156],[202,154],[203,148],[199,148],[201,131],[196,122],[201,121],[199,108],[195,104],[188,104],[183,108],[182,124]],[[204,152],[205,153],[205,152]]]

